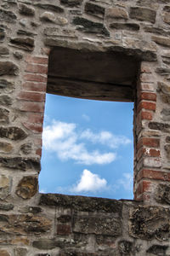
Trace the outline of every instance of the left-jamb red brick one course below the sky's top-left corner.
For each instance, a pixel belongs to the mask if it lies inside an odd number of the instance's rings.
[[[20,102],[20,110],[27,111],[27,112],[40,112],[43,113],[44,111],[44,104],[39,102]]]

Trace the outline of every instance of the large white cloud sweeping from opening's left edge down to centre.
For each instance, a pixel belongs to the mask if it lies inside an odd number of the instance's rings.
[[[43,146],[56,152],[60,160],[75,160],[79,164],[109,164],[116,159],[116,154],[99,153],[99,150],[88,152],[84,143],[78,143],[82,135],[76,131],[77,125],[53,121],[45,126],[42,133]]]

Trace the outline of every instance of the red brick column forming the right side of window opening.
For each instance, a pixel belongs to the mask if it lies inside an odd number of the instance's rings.
[[[134,199],[153,201],[156,180],[161,172],[160,137],[150,131],[149,123],[156,113],[156,77],[146,62],[141,64],[134,107]]]

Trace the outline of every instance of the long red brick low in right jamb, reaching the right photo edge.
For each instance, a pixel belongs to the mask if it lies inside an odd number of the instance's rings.
[[[137,181],[143,179],[143,178],[149,178],[149,179],[156,179],[161,181],[170,181],[170,173],[169,172],[161,172],[161,171],[154,171],[150,169],[143,169],[139,172]]]

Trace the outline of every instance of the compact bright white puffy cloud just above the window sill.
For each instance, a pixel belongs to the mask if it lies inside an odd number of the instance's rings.
[[[81,179],[79,180],[77,185],[72,187],[71,192],[96,192],[106,188],[107,181],[105,180],[105,178],[100,178],[99,175],[85,169],[82,172]]]

